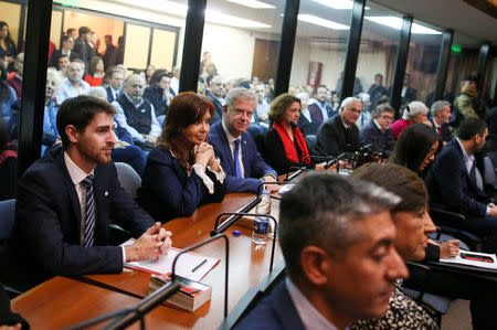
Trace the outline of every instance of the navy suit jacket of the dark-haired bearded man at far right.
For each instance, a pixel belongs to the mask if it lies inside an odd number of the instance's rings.
[[[486,204],[491,202],[469,177],[457,140],[442,149],[426,178],[426,185],[431,205],[468,217],[485,216]]]

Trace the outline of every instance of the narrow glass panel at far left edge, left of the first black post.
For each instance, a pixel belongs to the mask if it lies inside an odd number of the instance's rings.
[[[21,10],[24,4],[0,1],[0,201],[13,199],[17,185],[17,146],[22,100],[24,53]],[[24,7],[28,7],[27,4]]]

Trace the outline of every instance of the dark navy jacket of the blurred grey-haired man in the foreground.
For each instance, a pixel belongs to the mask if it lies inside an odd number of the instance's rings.
[[[304,323],[282,280],[272,292],[234,327],[236,330],[304,330]]]

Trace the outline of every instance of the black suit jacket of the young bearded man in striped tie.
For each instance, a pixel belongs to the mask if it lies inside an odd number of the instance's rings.
[[[140,236],[154,225],[124,191],[114,162],[94,171],[96,222],[94,246],[81,246],[81,206],[62,148],[49,151],[22,175],[15,205],[14,243],[40,279],[123,270],[123,253],[107,246],[110,221]],[[35,270],[33,270],[35,269]]]

